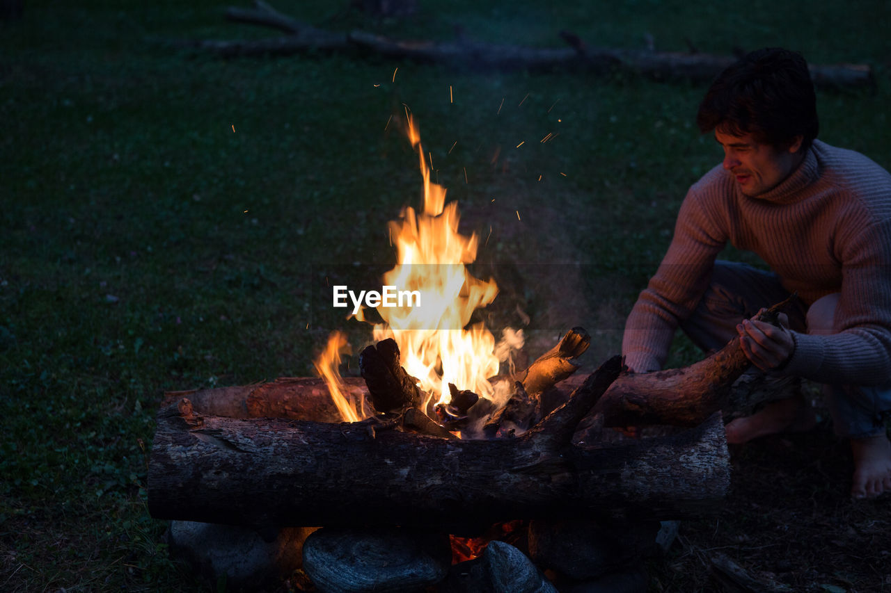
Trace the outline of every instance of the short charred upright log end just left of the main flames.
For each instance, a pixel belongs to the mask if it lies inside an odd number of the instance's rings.
[[[380,412],[420,408],[426,396],[418,379],[409,375],[399,361],[399,346],[388,337],[359,354],[359,369],[368,385],[372,405]]]

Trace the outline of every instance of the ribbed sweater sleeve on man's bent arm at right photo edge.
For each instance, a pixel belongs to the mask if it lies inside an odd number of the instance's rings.
[[[796,334],[784,374],[839,385],[882,385],[891,378],[891,219],[851,234],[839,254],[838,333]]]

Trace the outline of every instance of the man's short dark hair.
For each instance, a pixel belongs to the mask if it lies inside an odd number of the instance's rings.
[[[727,67],[699,104],[703,133],[751,134],[758,142],[788,147],[798,134],[806,150],[817,137],[817,98],[801,53],[768,47]]]

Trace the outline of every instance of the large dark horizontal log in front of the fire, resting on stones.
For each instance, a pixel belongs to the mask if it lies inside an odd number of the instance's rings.
[[[226,418],[188,398],[159,410],[151,515],[279,526],[490,525],[517,518],[687,518],[715,512],[729,485],[720,415],[627,446],[578,446],[578,421],[617,377],[611,359],[525,435],[448,440],[373,421]]]

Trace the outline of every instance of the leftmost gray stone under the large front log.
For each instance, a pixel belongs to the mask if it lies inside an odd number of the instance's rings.
[[[300,567],[303,540],[314,528],[290,527],[259,532],[250,527],[172,521],[170,554],[183,559],[227,589],[261,589],[282,581]]]

